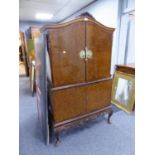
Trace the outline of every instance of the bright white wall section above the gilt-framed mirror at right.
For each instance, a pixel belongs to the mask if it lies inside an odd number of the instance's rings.
[[[124,0],[121,10],[121,24],[118,39],[117,63],[135,63],[135,20],[134,20],[134,1]],[[131,15],[132,14],[132,15]]]

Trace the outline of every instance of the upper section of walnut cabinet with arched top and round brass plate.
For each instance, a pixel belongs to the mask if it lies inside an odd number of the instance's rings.
[[[110,77],[113,28],[88,16],[46,25],[54,87]]]

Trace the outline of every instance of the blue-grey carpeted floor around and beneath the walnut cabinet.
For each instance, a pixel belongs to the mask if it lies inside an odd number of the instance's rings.
[[[115,110],[112,124],[106,116],[70,129],[61,134],[61,143],[46,146],[37,118],[35,96],[32,97],[29,79],[20,77],[20,155],[134,155],[135,115]]]

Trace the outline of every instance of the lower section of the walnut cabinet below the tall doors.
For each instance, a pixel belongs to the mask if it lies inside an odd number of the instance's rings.
[[[112,114],[112,80],[103,80],[88,85],[73,86],[50,91],[52,126],[54,133],[78,126],[105,112]]]

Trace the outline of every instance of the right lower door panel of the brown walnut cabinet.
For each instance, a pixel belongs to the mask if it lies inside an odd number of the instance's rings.
[[[111,104],[112,80],[92,84],[87,87],[87,112],[104,108]]]

